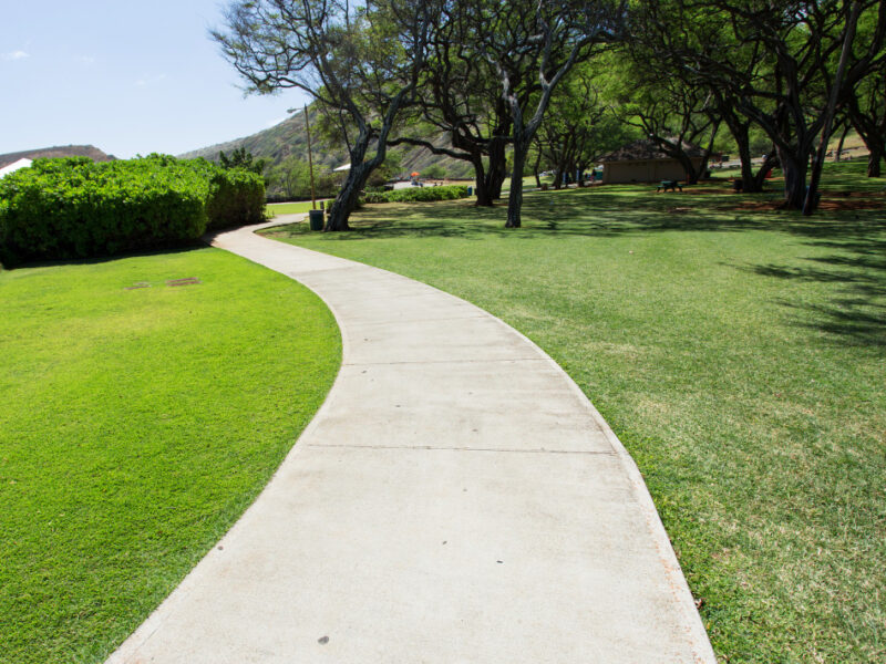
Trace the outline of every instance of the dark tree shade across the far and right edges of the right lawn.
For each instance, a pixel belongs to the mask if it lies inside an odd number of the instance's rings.
[[[694,191],[694,193],[693,193]],[[618,187],[528,194],[524,227],[504,228],[506,201],[493,208],[468,200],[446,204],[375,205],[352,218],[352,232],[326,234],[322,241],[395,238],[514,240],[617,237],[656,232],[770,231],[801,238],[812,247],[833,250],[808,258],[808,266],[758,264],[738,269],[763,277],[830,283],[827,304],[783,301],[795,310],[794,323],[841,342],[886,346],[886,216],[883,210],[827,211],[813,217],[774,209],[742,209],[745,201],[775,203],[779,193],[701,195],[656,194],[653,187]],[[710,194],[710,193],[709,193]],[[278,230],[279,232],[279,230]],[[303,225],[281,235],[301,235]]]

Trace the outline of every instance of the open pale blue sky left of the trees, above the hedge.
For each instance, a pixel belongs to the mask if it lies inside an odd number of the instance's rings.
[[[244,97],[210,41],[220,0],[0,0],[0,154],[92,144],[117,157],[247,136],[306,95]]]

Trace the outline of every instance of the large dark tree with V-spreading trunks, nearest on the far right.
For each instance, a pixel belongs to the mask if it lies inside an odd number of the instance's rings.
[[[677,4],[691,17],[704,18],[688,21],[689,30],[718,20],[728,25],[731,56],[699,48],[671,54],[711,87],[729,91],[734,108],[765,131],[784,172],[784,206],[812,214],[836,103],[883,59],[886,3],[690,0]],[[862,19],[870,25],[867,43],[855,39]]]

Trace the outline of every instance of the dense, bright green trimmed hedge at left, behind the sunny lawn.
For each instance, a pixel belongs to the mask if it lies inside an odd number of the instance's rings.
[[[0,261],[112,256],[192,242],[260,221],[260,176],[166,155],[37,159],[0,179]]]

